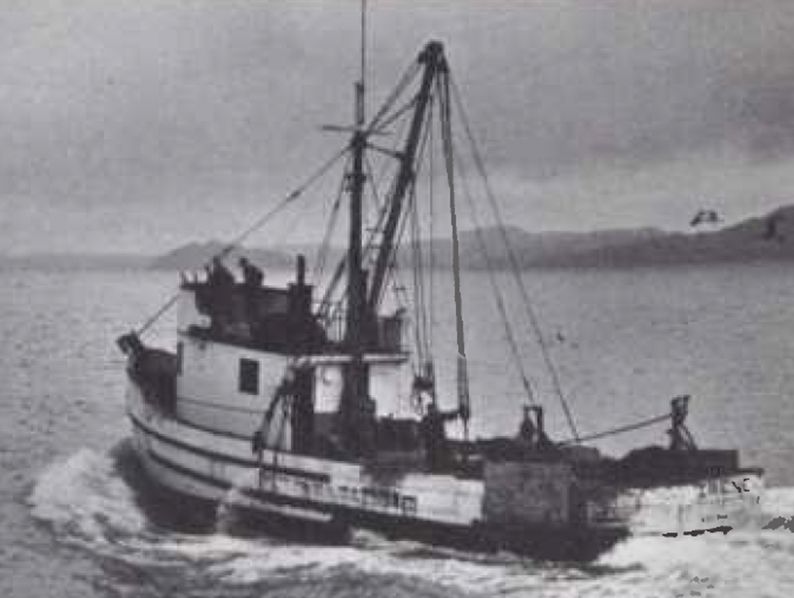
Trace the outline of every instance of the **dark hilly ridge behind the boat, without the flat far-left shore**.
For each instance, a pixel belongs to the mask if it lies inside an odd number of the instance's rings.
[[[516,226],[505,228],[514,256],[521,268],[538,267],[630,267],[656,264],[697,264],[744,262],[756,260],[794,261],[794,206],[786,206],[756,218],[709,232],[667,232],[656,228],[612,229],[591,232],[530,233]],[[481,251],[485,245],[488,259]],[[223,244],[191,243],[155,259],[151,266],[159,269],[195,270]],[[452,265],[452,242],[434,238],[424,245],[425,259],[436,267]],[[233,259],[245,254],[262,267],[291,268],[294,255],[304,253],[309,261],[316,246],[302,245],[273,249],[240,249]],[[341,258],[343,250],[331,248],[328,262]],[[460,234],[461,265],[481,269],[490,264],[507,268],[510,256],[502,240],[502,231],[495,227],[463,231]],[[400,262],[408,265],[405,252]]]

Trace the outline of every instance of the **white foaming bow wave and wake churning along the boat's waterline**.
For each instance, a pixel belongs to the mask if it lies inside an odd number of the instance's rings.
[[[777,584],[780,572],[794,565],[794,534],[780,531],[632,538],[593,564],[566,566],[507,553],[392,541],[368,531],[355,531],[345,545],[321,546],[239,537],[224,531],[218,521],[203,528],[168,527],[161,520],[175,512],[163,509],[165,503],[146,486],[131,454],[125,446],[110,454],[82,449],[51,464],[29,496],[32,514],[59,541],[131,566],[168,568],[169,579],[184,583],[180,592],[185,595],[211,583],[259,588],[263,595],[284,594],[289,587],[286,595],[333,595],[337,588],[341,596],[346,594],[340,588],[355,584],[372,594],[388,587],[391,595],[414,597],[642,597],[688,594],[691,580],[698,577],[716,583],[720,595],[740,596],[760,595],[748,580]],[[770,489],[764,511],[779,514],[792,503],[794,488]],[[221,523],[228,516],[222,511]],[[765,592],[778,595],[776,588],[769,585]],[[791,585],[779,595],[790,591]]]

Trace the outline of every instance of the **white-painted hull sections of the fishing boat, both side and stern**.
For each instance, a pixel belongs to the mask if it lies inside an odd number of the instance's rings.
[[[356,463],[272,450],[252,453],[249,438],[203,430],[164,415],[144,400],[134,383],[129,385],[127,409],[134,446],[147,473],[178,494],[265,516],[400,535],[407,530],[406,535],[430,540],[444,535],[482,540],[490,533],[482,480],[425,473],[378,478]],[[613,544],[629,530],[669,535],[735,527],[760,500],[762,484],[757,476],[734,478],[623,491],[608,503],[588,505],[590,525],[579,531],[596,544]],[[570,527],[552,523],[508,531],[530,544],[553,543],[555,538],[581,541],[581,535],[568,537],[578,533]]]

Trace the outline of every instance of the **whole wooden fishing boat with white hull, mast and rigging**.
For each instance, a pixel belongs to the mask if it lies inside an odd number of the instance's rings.
[[[133,444],[147,474],[178,496],[210,505],[233,500],[241,512],[282,529],[373,529],[551,559],[592,559],[638,530],[730,529],[734,517],[758,502],[762,471],[742,468],[736,450],[696,446],[685,423],[689,397],[672,398],[662,416],[607,432],[669,422],[668,446],[639,448],[619,459],[602,455],[586,441],[603,434],[579,434],[562,392],[572,438],[549,437],[536,389],[518,358],[523,333],[507,313],[493,267],[487,271],[494,310],[516,357],[526,404],[517,406],[514,429],[471,437],[470,422],[488,414],[474,413],[470,401],[458,200],[471,197],[459,178],[457,123],[471,144],[470,164],[485,183],[482,201],[499,218],[511,280],[532,323],[527,334],[538,333],[556,381],[555,370],[443,45],[431,41],[420,50],[369,120],[363,73],[362,66],[354,124],[326,127],[345,134],[340,152],[216,255],[206,273],[183,274],[163,308],[118,339],[127,356]],[[434,143],[437,151],[429,149]],[[374,172],[372,154],[393,167],[392,176]],[[430,168],[440,177],[422,170],[434,155]],[[285,286],[263,285],[256,268],[237,280],[224,262],[239,255],[240,243],[336,164],[342,182],[332,215],[346,207],[347,248],[324,276],[322,293],[301,255]],[[436,178],[447,183],[452,396],[438,392],[427,338],[430,291],[422,282],[434,269],[428,267],[433,248],[425,244],[423,254],[418,234],[421,188],[427,187],[420,180],[438,195]],[[367,214],[374,214],[369,221]],[[410,241],[403,241],[406,231]],[[493,248],[480,241],[484,263],[493,266]],[[320,251],[318,264],[327,255]],[[403,270],[412,275],[411,291],[400,284]],[[392,294],[396,299],[387,300]],[[175,348],[148,346],[144,333],[172,306]],[[445,425],[452,421],[462,433],[448,438]]]

